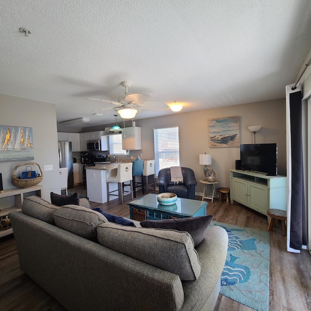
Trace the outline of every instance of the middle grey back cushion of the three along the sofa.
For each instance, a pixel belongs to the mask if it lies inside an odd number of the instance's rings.
[[[54,213],[55,225],[91,241],[97,241],[96,229],[107,218],[87,207],[65,205]]]

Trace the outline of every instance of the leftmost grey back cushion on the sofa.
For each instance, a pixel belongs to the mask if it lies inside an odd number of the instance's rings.
[[[58,208],[58,206],[52,205],[50,202],[35,195],[24,198],[21,206],[21,210],[24,214],[52,225],[54,225],[53,213]]]

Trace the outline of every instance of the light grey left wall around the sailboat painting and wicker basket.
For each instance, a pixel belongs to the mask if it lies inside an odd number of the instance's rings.
[[[60,193],[55,105],[0,94],[0,124],[33,128],[35,159],[31,162],[38,163],[44,173],[40,185],[50,201],[51,191]],[[25,162],[0,162],[4,190],[17,188],[11,182],[12,171]],[[53,171],[44,172],[47,164],[53,165]]]

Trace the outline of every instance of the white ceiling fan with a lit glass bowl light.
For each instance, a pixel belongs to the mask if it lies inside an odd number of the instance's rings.
[[[169,107],[165,103],[148,101],[151,98],[150,94],[142,94],[142,93],[129,94],[128,87],[131,86],[131,83],[129,81],[122,81],[121,85],[125,87],[125,93],[124,95],[118,97],[118,102],[106,101],[104,99],[96,99],[96,98],[86,98],[86,99],[89,101],[103,102],[119,106],[119,107],[103,108],[99,110],[114,109],[115,111],[118,111],[121,118],[123,119],[134,118],[136,113],[140,109],[165,109]]]

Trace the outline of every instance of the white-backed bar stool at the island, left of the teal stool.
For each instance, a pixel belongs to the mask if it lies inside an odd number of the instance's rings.
[[[121,203],[123,204],[124,195],[131,193],[133,200],[133,176],[132,176],[132,163],[121,163],[118,164],[117,175],[109,176],[106,179],[107,184],[107,202],[109,202],[109,196],[114,195],[121,198]],[[116,171],[116,170],[114,170]],[[129,181],[129,185],[124,185],[125,181]],[[118,190],[109,191],[109,183],[118,183]],[[125,191],[124,186],[130,186],[130,191]],[[113,192],[118,191],[118,194],[113,194]]]

